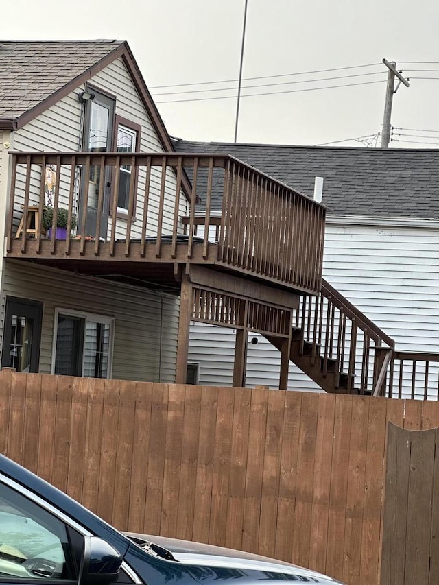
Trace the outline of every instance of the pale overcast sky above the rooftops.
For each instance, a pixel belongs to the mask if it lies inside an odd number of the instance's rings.
[[[233,141],[237,82],[230,80],[239,75],[244,0],[0,0],[0,6],[3,39],[128,40],[169,134]],[[243,95],[270,95],[242,97],[238,141],[313,145],[377,134],[387,58],[411,79],[394,97],[392,123],[408,129],[395,130],[407,136],[394,138],[412,142],[391,146],[438,147],[438,23],[438,0],[248,0],[243,87],[257,87]],[[322,81],[296,83],[303,80]],[[200,91],[217,88],[232,89]],[[198,93],[160,95],[190,89]],[[218,95],[232,97],[202,99]],[[198,101],[176,102],[182,99]]]

